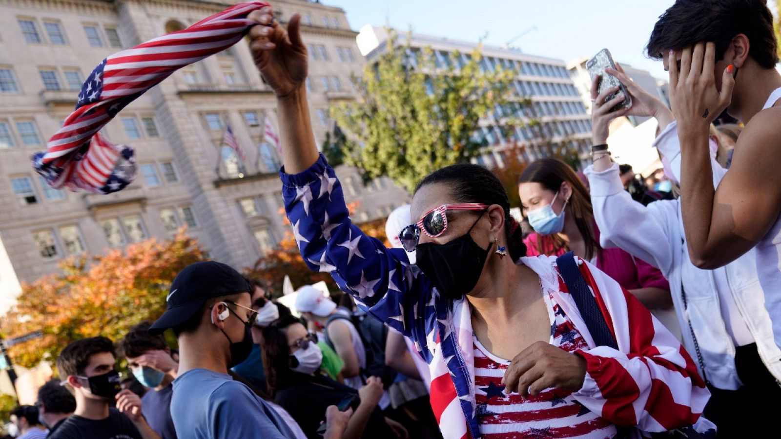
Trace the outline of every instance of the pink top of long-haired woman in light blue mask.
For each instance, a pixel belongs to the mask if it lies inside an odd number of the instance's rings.
[[[594,224],[594,234],[597,241],[599,241],[599,229],[596,224]],[[539,237],[540,234],[533,232],[523,240],[523,243],[526,244],[527,256],[540,255],[540,252],[537,252],[537,239]],[[542,238],[542,248],[545,255],[560,256],[569,252],[567,248],[555,250],[553,248],[553,240],[550,237],[543,236]],[[629,255],[629,253],[624,252],[620,248],[603,248],[601,253],[597,253],[597,263],[595,265],[609,277],[615,279],[626,290],[648,287],[658,287],[664,290],[670,289],[670,284],[662,276],[661,271],[651,266],[648,262]]]

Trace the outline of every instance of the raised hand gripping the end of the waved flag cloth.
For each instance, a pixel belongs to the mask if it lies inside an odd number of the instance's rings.
[[[287,31],[274,20],[270,6],[252,11],[248,19],[259,23],[249,31],[252,58],[278,98],[298,90],[306,80],[306,45],[301,41],[301,16],[294,14]]]

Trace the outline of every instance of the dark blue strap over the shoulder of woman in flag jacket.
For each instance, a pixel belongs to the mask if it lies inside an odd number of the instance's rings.
[[[583,274],[578,269],[575,254],[568,252],[559,256],[556,259],[556,266],[558,266],[558,273],[562,275],[562,279],[567,285],[569,294],[575,300],[580,316],[586,322],[586,327],[591,338],[594,339],[594,343],[597,346],[609,346],[618,350],[619,346],[608,328],[608,323],[604,321],[602,310],[597,305],[597,299],[591,294]]]

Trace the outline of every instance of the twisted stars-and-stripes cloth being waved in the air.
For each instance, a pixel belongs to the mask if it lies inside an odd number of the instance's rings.
[[[249,12],[269,5],[243,2],[187,29],[157,37],[104,59],[84,81],[76,109],[33,156],[33,166],[52,187],[108,194],[135,176],[134,152],[99,131],[144,92],[181,67],[223,51],[257,24]]]

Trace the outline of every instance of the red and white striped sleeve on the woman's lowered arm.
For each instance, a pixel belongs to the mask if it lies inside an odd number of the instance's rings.
[[[658,432],[697,422],[710,393],[688,352],[615,280],[587,262],[580,273],[619,350],[597,346],[577,352],[586,359],[587,371],[573,396],[619,426]]]

